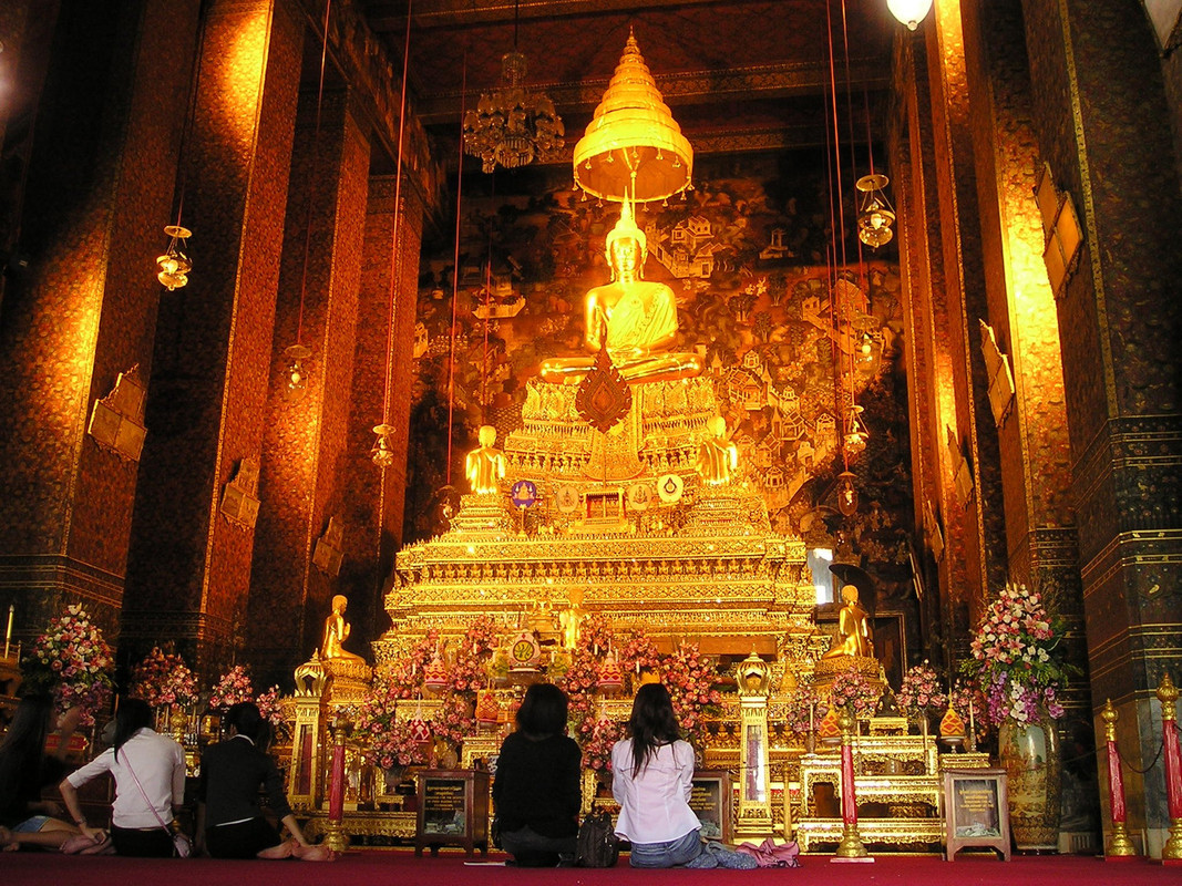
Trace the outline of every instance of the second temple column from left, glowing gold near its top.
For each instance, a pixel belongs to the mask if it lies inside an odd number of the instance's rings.
[[[210,672],[245,643],[303,21],[290,0],[203,8],[183,158],[194,271],[157,324],[123,630],[125,653],[168,638]]]

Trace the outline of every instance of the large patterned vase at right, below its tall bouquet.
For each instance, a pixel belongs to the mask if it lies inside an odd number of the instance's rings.
[[[1030,723],[1005,721],[998,729],[998,756],[1008,776],[1014,846],[1019,852],[1057,851],[1063,760],[1054,721],[1044,710]]]

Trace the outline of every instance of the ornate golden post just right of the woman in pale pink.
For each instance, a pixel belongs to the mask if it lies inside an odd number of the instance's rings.
[[[741,836],[772,829],[768,777],[767,696],[771,671],[754,651],[739,664],[739,822]],[[785,789],[787,783],[785,782]]]

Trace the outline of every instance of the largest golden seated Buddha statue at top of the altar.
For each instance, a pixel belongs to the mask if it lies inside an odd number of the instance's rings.
[[[693,378],[702,371],[695,353],[673,353],[677,340],[677,301],[664,284],[644,280],[648,239],[636,227],[625,201],[619,221],[608,234],[611,282],[587,292],[584,305],[586,350],[606,341],[608,356],[629,383]],[[578,384],[595,365],[592,357],[554,357],[541,364],[541,378]]]

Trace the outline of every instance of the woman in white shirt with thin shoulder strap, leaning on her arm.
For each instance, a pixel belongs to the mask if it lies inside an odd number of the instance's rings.
[[[171,833],[161,821],[184,801],[184,750],[152,728],[151,708],[124,699],[115,715],[115,742],[61,782],[61,799],[82,833],[96,842],[105,834],[90,827],[78,804],[78,788],[103,773],[115,776],[111,842],[119,855],[170,858]],[[138,780],[138,784],[136,781]]]

